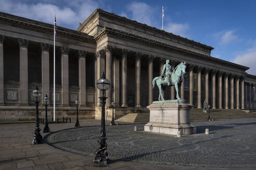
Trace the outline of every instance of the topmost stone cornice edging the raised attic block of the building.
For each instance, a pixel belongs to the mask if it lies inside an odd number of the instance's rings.
[[[180,35],[175,35],[173,33],[165,32],[164,30],[159,30],[156,27],[152,27],[152,26],[149,26],[147,24],[142,24],[142,23],[139,23],[139,22],[137,22],[135,20],[130,20],[130,19],[126,18],[126,17],[118,16],[115,13],[110,13],[110,12],[107,12],[107,11],[105,11],[103,9],[100,9],[100,8],[97,8],[82,24],[80,24],[80,26],[78,27],[77,31],[81,31],[85,26],[87,26],[98,15],[104,15],[106,17],[115,18],[115,19],[117,19],[119,21],[130,23],[132,25],[136,25],[137,27],[140,27],[142,29],[147,29],[147,30],[156,32],[158,34],[162,34],[164,36],[169,36],[169,37],[174,37],[174,38],[177,38],[177,39],[181,39],[181,40],[187,41],[188,43],[192,43],[193,45],[200,46],[200,47],[203,47],[203,48],[206,48],[206,49],[209,49],[209,50],[213,50],[214,49],[213,47],[207,46],[206,44],[201,44],[201,43],[199,43],[197,41],[181,37]]]

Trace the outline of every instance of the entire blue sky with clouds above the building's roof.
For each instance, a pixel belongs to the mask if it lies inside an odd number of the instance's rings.
[[[214,47],[212,56],[249,66],[256,75],[256,1],[18,1],[0,0],[0,11],[76,30],[96,8]],[[253,68],[254,67],[254,68]]]

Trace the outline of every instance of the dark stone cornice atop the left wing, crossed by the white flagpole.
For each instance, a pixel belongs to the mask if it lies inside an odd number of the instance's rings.
[[[26,30],[32,30],[36,32],[42,32],[46,34],[53,34],[54,25],[47,24],[40,21],[35,21],[8,13],[0,12],[0,23],[20,27]],[[86,33],[78,32],[75,30],[67,29],[57,25],[57,37],[69,37],[72,39],[79,39],[81,41],[90,41],[94,43],[93,36],[89,36]]]

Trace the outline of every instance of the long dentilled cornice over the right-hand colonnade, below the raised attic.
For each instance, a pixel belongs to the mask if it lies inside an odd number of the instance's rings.
[[[239,68],[244,69],[244,70],[249,69],[249,67],[246,67],[246,66],[243,66],[243,65],[239,65],[239,64],[228,62],[228,61],[225,61],[225,60],[217,59],[217,58],[214,58],[212,56],[204,55],[204,54],[201,54],[201,53],[198,53],[198,52],[194,52],[194,51],[187,50],[187,49],[184,49],[184,48],[176,47],[176,46],[173,46],[173,45],[170,45],[170,44],[162,43],[160,41],[152,40],[152,39],[145,38],[145,37],[142,37],[142,36],[138,36],[138,35],[135,35],[135,34],[123,32],[123,31],[116,30],[116,29],[112,29],[112,28],[106,27],[106,26],[98,34],[96,34],[94,36],[94,39],[98,43],[101,39],[104,39],[108,35],[114,35],[114,36],[119,36],[119,37],[123,37],[123,38],[129,38],[129,39],[132,39],[134,41],[141,42],[143,44],[151,45],[153,47],[159,47],[159,48],[163,48],[163,49],[169,49],[169,50],[172,50],[172,51],[177,51],[177,52],[180,52],[180,53],[193,55],[193,56],[196,56],[199,59],[206,59],[206,60],[214,62],[214,63],[217,62],[217,63],[220,63],[220,64],[228,64],[228,65],[232,65],[232,66],[235,66],[235,67],[239,67]]]

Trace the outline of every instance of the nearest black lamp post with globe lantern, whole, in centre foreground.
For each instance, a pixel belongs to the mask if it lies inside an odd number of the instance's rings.
[[[110,82],[108,79],[106,79],[106,76],[103,72],[103,75],[100,79],[97,80],[97,88],[102,91],[102,95],[99,97],[101,101],[101,135],[98,140],[99,143],[99,149],[96,152],[96,156],[93,160],[93,162],[104,162],[105,164],[108,163],[108,152],[107,152],[107,143],[106,143],[106,130],[105,130],[105,103],[106,103],[106,97],[105,91],[110,88]]]

